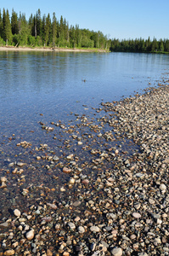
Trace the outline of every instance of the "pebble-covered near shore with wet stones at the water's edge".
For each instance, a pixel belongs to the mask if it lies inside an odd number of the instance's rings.
[[[56,129],[65,137],[62,155],[48,144],[33,151],[33,142],[17,143],[31,148],[48,180],[37,185],[24,175],[41,179],[35,163],[16,160],[1,169],[3,201],[13,177],[20,191],[0,220],[0,255],[169,255],[168,83],[120,102],[102,102],[96,123],[85,114],[67,126],[41,122],[45,132],[55,132],[54,140]],[[132,154],[122,149],[125,140]]]

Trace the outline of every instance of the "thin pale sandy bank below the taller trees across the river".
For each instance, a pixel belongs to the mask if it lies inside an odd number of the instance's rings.
[[[0,46],[0,51],[54,51],[54,52],[108,52],[106,49],[71,49],[71,48],[47,48],[47,47],[14,47]]]

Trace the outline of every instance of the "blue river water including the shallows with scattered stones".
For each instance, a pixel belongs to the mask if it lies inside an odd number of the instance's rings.
[[[137,148],[128,141],[107,143],[91,127],[78,125],[84,116],[90,125],[100,125],[97,119],[105,114],[99,111],[101,102],[119,101],[157,86],[168,70],[168,55],[0,52],[0,176],[8,178],[7,191],[0,190],[3,210],[7,199],[11,205],[22,203],[17,198],[23,188],[43,183],[59,191],[59,185],[69,179],[62,172],[69,154],[78,157],[81,166],[90,162],[92,148],[103,151],[119,144],[128,152]],[[57,123],[66,129],[54,125]],[[43,126],[54,131],[46,131]],[[69,129],[73,131],[69,133]],[[111,129],[104,125],[99,131]],[[72,139],[72,134],[82,137],[82,145]],[[16,146],[23,141],[30,145]],[[48,148],[39,149],[44,143]],[[59,156],[59,166],[47,159],[37,160],[37,156],[54,155]],[[8,166],[11,162],[14,166]],[[12,174],[17,162],[26,164],[22,175]],[[85,173],[90,177],[90,167]]]

